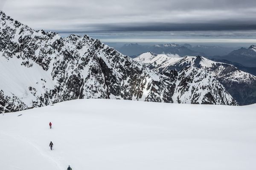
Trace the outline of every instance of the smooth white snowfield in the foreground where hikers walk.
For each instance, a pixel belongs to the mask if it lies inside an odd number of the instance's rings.
[[[73,170],[255,170],[255,109],[256,105],[77,99],[4,113],[0,166],[3,170],[66,170],[69,164]]]

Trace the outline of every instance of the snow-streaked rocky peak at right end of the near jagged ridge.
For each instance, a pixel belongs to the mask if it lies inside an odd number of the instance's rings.
[[[223,101],[236,102],[215,79],[215,77],[204,69],[187,66],[179,72],[177,88],[174,96],[178,103],[191,102],[194,104],[218,104]],[[229,103],[225,103],[228,105]]]

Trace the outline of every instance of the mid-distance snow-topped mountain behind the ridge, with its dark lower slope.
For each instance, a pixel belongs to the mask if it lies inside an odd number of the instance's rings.
[[[159,72],[174,69],[181,71],[187,66],[207,70],[224,85],[231,96],[239,102],[239,105],[256,103],[256,77],[233,65],[214,62],[201,56],[172,58],[164,54],[152,53],[141,54],[135,60],[143,62],[148,68]]]

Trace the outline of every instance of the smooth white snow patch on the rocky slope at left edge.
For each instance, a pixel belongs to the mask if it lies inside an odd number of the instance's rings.
[[[45,92],[43,86],[46,89],[53,89],[54,84],[50,71],[44,71],[32,60],[30,62],[33,66],[29,68],[21,65],[22,62],[22,59],[15,57],[6,59],[0,56],[0,88],[8,96],[16,95],[26,105],[32,105],[32,100],[36,100],[36,97],[29,91],[30,86],[35,87],[36,93],[40,95]]]

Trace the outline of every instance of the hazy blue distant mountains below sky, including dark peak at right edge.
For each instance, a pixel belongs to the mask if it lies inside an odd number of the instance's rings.
[[[183,56],[204,56],[210,59],[222,60],[223,62],[238,63],[244,67],[256,67],[256,45],[249,48],[226,48],[218,45],[189,45],[189,44],[159,44],[159,45],[139,45],[125,44],[118,49],[122,54],[135,58],[138,55],[151,51],[155,54],[178,54]],[[227,60],[227,61],[225,61]],[[243,68],[253,71],[254,68]],[[241,69],[242,70],[242,69]]]

